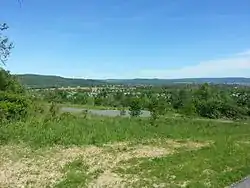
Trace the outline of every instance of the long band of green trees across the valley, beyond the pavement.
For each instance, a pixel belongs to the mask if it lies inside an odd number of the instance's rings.
[[[35,93],[48,102],[128,108],[132,116],[138,116],[143,109],[149,110],[153,119],[168,111],[213,119],[242,119],[249,116],[250,111],[250,88],[244,86],[106,87]]]

